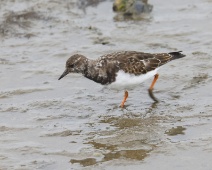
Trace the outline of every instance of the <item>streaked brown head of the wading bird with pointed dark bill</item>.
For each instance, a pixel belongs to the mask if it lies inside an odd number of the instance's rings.
[[[87,67],[87,58],[80,54],[75,54],[71,56],[66,61],[66,68],[63,74],[60,76],[60,79],[65,77],[69,73],[84,73],[86,67]]]

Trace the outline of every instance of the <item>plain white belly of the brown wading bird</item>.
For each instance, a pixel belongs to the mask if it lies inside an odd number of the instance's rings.
[[[157,71],[159,68],[152,70],[146,74],[142,74],[140,76],[135,76],[133,74],[125,73],[124,71],[120,70],[117,73],[116,81],[108,85],[109,88],[127,88],[131,86],[135,86],[137,84],[141,84],[145,80],[153,77],[155,74],[157,74]]]

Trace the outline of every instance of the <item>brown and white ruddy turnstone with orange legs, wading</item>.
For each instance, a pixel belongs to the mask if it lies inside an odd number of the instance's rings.
[[[170,53],[143,53],[136,51],[122,51],[106,54],[97,60],[91,60],[81,54],[75,54],[66,61],[66,69],[60,76],[62,79],[69,73],[81,73],[84,77],[102,85],[128,86],[140,84],[144,80],[154,77],[149,87],[150,97],[157,102],[152,90],[159,77],[157,73],[160,66],[171,60],[185,57],[182,51]],[[128,91],[120,107],[128,98]]]

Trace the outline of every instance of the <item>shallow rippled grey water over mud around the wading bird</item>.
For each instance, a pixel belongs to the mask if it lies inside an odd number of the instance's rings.
[[[83,1],[81,1],[83,2]],[[211,1],[152,0],[141,21],[114,21],[111,1],[0,4],[0,169],[211,169]],[[106,15],[107,14],[107,15]],[[58,81],[75,53],[187,57],[129,91],[80,75]]]

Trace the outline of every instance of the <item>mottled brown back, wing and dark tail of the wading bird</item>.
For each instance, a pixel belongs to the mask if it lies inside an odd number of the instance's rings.
[[[123,70],[125,73],[141,75],[152,71],[165,63],[182,58],[185,55],[179,52],[171,53],[143,53],[136,51],[123,51],[103,55],[98,63],[104,67],[114,67],[116,72]]]

